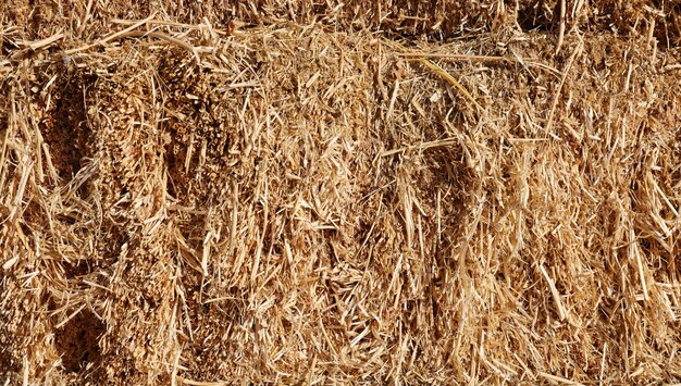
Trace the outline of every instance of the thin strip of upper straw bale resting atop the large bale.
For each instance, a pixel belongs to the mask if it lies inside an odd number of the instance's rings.
[[[97,38],[115,18],[151,13],[174,22],[233,20],[268,24],[322,23],[329,29],[373,29],[435,38],[497,30],[515,24],[523,30],[558,32],[559,26],[592,33],[637,35],[652,30],[665,47],[681,41],[679,0],[9,0],[0,21],[18,25],[30,39],[64,27],[74,38]]]

